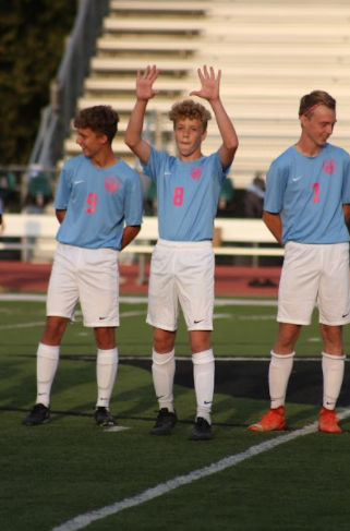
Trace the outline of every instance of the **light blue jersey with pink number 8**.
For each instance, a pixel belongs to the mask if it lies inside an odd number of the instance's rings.
[[[222,170],[219,152],[192,162],[152,147],[144,173],[157,184],[159,237],[170,241],[213,240]]]

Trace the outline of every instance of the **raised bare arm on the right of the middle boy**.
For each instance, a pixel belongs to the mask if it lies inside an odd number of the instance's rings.
[[[218,71],[217,76],[215,76],[213,67],[210,67],[208,71],[207,67],[204,65],[203,72],[201,69],[198,69],[197,72],[202,83],[202,88],[201,90],[193,90],[190,96],[198,96],[200,98],[204,98],[212,106],[222,138],[219,155],[222,168],[226,170],[233,160],[239,142],[233,124],[229,119],[220,99],[219,89],[221,70]]]

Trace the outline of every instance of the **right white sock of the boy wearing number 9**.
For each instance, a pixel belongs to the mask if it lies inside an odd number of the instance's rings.
[[[113,390],[118,369],[118,349],[97,349],[97,402],[96,408],[109,408],[109,400]]]

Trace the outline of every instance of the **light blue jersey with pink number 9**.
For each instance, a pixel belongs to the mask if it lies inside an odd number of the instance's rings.
[[[57,240],[79,248],[120,250],[124,222],[142,224],[138,174],[123,160],[97,168],[84,155],[64,162],[55,207],[67,210]]]

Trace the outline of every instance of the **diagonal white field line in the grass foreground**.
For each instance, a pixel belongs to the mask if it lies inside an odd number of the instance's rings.
[[[350,409],[343,411],[342,413],[338,414],[339,419],[347,419],[350,417]],[[93,510],[90,512],[85,512],[84,515],[80,515],[72,520],[69,520],[62,523],[59,527],[53,528],[51,531],[75,531],[79,529],[83,529],[86,526],[89,526],[93,521],[101,520],[108,516],[117,515],[123,509],[128,509],[130,507],[135,507],[144,502],[148,502],[149,499],[157,498],[162,496],[164,494],[168,494],[171,491],[174,491],[179,486],[188,485],[193,481],[201,480],[202,478],[206,478],[207,475],[216,474],[217,472],[221,472],[230,467],[234,467],[246,459],[255,457],[264,451],[268,451],[277,446],[280,446],[285,443],[289,443],[294,438],[302,437],[303,435],[309,435],[311,433],[315,433],[317,431],[317,422],[310,424],[301,430],[295,430],[287,435],[281,435],[270,441],[266,441],[265,443],[261,443],[256,446],[251,446],[248,450],[242,451],[240,454],[236,454],[225,459],[221,459],[218,462],[209,464],[208,467],[204,467],[203,469],[194,470],[185,475],[178,475],[166,483],[159,483],[155,487],[147,488],[143,493],[137,494],[136,496],[122,499],[121,502],[116,502],[116,504],[108,505],[97,510]]]

